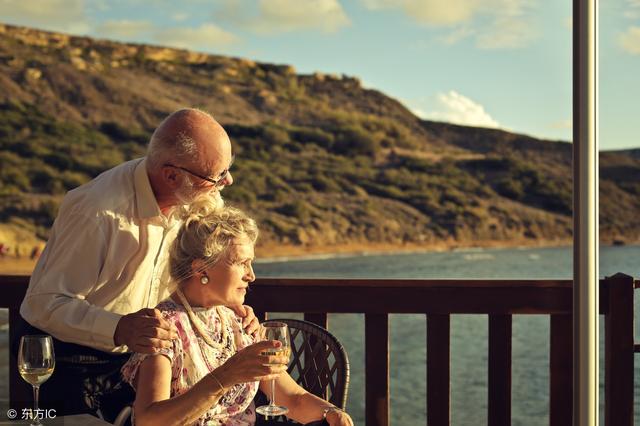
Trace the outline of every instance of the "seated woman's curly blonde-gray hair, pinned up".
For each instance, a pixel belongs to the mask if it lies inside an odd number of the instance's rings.
[[[196,201],[171,246],[171,278],[181,283],[210,268],[223,258],[234,240],[242,237],[254,244],[258,239],[258,226],[245,212],[207,200]],[[202,263],[194,269],[195,260]]]

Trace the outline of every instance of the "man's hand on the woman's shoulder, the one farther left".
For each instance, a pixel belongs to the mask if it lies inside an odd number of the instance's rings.
[[[120,318],[113,341],[116,346],[127,345],[130,351],[152,354],[170,348],[171,340],[177,337],[175,327],[162,318],[158,309],[140,309]]]

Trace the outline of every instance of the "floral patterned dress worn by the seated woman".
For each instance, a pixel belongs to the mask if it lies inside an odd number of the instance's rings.
[[[179,338],[173,341],[171,348],[159,351],[160,354],[171,361],[171,397],[180,395],[195,385],[206,374],[213,371],[229,359],[234,353],[234,341],[236,350],[254,343],[251,336],[242,330],[241,319],[228,308],[222,307],[220,313],[224,315],[224,323],[227,328],[227,341],[222,342],[222,349],[209,346],[200,337],[189,320],[184,306],[171,299],[158,304],[162,316],[173,323]],[[215,308],[192,308],[194,313],[210,331],[214,342],[222,339],[221,321]],[[122,367],[122,375],[126,382],[133,386],[136,373],[142,361],[148,354],[135,353]],[[258,390],[258,382],[241,383],[229,389],[193,425],[197,426],[248,426],[255,424],[256,412],[253,398]],[[135,415],[135,413],[134,413]],[[135,423],[135,419],[134,419]]]

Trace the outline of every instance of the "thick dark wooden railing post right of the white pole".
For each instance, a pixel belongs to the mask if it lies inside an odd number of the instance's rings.
[[[633,425],[633,278],[615,274],[604,281],[605,426]]]

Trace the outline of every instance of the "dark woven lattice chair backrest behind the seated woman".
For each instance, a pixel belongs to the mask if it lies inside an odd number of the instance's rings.
[[[326,329],[302,320],[277,319],[289,326],[289,374],[307,391],[342,409],[347,405],[349,358],[342,344]]]

